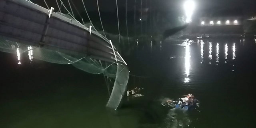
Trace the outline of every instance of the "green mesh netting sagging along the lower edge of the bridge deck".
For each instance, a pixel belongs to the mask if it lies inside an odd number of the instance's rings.
[[[77,54],[76,52],[66,50],[51,50],[44,47],[35,47],[19,42],[12,42],[0,39],[0,51],[11,54],[19,54],[33,51],[33,58],[56,64],[72,64],[74,67],[91,74],[104,74],[104,76],[113,78],[116,77],[116,64],[88,58],[85,55]]]

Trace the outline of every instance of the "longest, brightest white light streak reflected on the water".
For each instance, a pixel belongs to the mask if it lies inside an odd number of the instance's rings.
[[[190,68],[190,43],[187,42],[186,45],[186,53],[185,53],[185,70],[186,70],[186,78],[185,78],[185,83],[189,82],[189,68]]]

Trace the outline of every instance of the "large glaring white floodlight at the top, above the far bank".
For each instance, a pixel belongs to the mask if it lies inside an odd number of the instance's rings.
[[[193,0],[187,0],[184,3],[184,9],[185,9],[185,14],[186,14],[186,22],[189,23],[192,21],[192,14],[195,9],[195,3]]]

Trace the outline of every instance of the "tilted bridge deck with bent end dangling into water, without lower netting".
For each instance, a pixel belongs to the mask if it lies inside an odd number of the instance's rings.
[[[72,51],[79,56],[117,64],[107,106],[114,109],[119,106],[129,71],[112,42],[98,32],[53,12],[53,8],[48,10],[27,0],[0,0],[0,38],[47,50]]]

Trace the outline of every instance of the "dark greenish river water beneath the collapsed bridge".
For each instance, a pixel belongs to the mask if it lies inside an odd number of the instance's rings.
[[[144,88],[144,96],[125,97],[115,112],[105,107],[102,75],[1,52],[0,127],[253,128],[256,40],[183,42],[138,45],[124,56],[128,89]],[[188,93],[200,100],[196,110],[179,113],[161,105]]]

